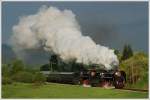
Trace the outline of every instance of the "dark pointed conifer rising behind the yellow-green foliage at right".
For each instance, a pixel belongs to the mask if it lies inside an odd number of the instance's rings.
[[[121,60],[126,60],[133,56],[133,51],[130,45],[125,45],[123,49],[123,54]]]

